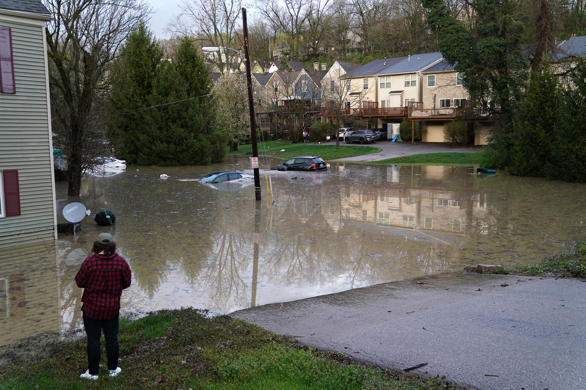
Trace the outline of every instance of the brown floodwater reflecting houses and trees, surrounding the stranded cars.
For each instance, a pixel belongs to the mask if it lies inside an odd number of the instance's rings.
[[[75,236],[0,254],[0,345],[80,329],[74,276],[101,232],[114,235],[132,269],[122,313],[230,313],[466,265],[541,261],[586,239],[584,184],[482,177],[471,167],[332,163],[326,172],[268,171],[271,203],[263,169],[275,163],[261,161],[261,202],[250,183],[196,181],[247,169],[247,157],[138,172],[129,165],[89,177],[76,197],[58,182],[58,222],[70,202],[92,216]],[[115,213],[115,225],[93,221],[102,209]]]

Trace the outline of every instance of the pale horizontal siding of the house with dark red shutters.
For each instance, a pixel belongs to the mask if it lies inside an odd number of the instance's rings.
[[[0,170],[18,170],[21,215],[0,218],[0,248],[54,240],[45,22],[2,14],[12,29],[16,94],[0,94]]]

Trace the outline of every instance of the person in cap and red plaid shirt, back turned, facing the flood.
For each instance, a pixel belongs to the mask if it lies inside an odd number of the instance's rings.
[[[116,251],[114,237],[109,233],[98,235],[91,249],[93,254],[84,260],[75,277],[77,287],[83,288],[81,311],[87,334],[87,371],[81,378],[98,379],[100,370],[100,337],[104,331],[108,375],[115,377],[118,367],[118,316],[122,290],[130,287],[130,267]]]

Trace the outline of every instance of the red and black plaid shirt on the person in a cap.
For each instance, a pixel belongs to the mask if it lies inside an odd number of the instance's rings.
[[[130,287],[130,267],[118,253],[94,253],[84,260],[75,277],[83,288],[81,310],[94,320],[108,320],[120,310],[122,289]]]

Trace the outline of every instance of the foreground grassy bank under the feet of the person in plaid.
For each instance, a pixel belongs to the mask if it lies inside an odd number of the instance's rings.
[[[49,358],[7,356],[2,389],[461,389],[445,378],[381,370],[340,353],[323,353],[229,316],[162,310],[121,320],[122,372],[108,378],[105,350],[97,381],[86,371],[85,339],[50,346]]]

